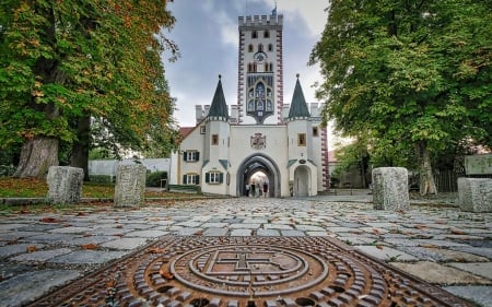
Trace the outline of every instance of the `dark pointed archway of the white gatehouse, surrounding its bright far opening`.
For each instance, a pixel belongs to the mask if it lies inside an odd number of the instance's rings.
[[[237,196],[246,194],[248,184],[256,173],[268,178],[268,197],[280,197],[280,170],[277,164],[266,155],[256,154],[243,161],[237,169]]]

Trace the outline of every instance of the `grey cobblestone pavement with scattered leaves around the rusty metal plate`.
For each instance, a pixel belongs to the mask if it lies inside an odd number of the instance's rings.
[[[140,209],[0,215],[0,306],[22,306],[163,235],[331,236],[492,306],[492,213],[413,202],[373,210],[370,196],[207,199]]]

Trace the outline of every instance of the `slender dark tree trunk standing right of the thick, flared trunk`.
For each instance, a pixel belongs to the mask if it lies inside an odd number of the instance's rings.
[[[72,145],[70,166],[80,167],[84,170],[84,180],[89,181],[89,143],[91,130],[91,117],[79,118],[77,125],[77,138]]]

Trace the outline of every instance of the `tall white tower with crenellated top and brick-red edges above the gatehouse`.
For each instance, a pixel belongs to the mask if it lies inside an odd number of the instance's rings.
[[[238,123],[282,123],[283,15],[239,16]]]

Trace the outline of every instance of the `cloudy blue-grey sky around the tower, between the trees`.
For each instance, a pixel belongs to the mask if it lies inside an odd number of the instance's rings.
[[[276,2],[283,14],[284,103],[291,103],[296,73],[306,102],[317,102],[313,84],[323,79],[319,67],[307,61],[325,27],[328,0],[174,0],[168,9],[176,24],[165,35],[178,45],[180,58],[164,66],[180,127],[195,126],[195,105],[211,103],[219,74],[226,103],[237,104],[237,19],[269,15]]]

